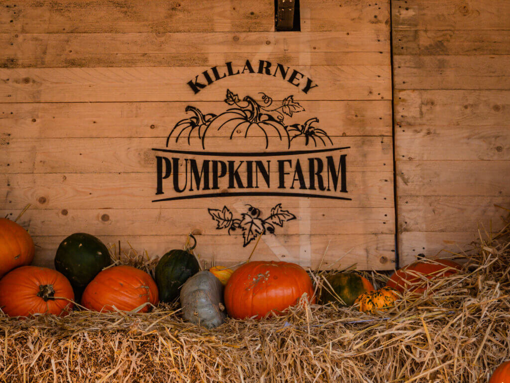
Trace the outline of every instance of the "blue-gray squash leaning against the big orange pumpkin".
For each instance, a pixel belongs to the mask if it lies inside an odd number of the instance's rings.
[[[218,327],[225,321],[223,285],[210,271],[200,271],[190,277],[181,289],[183,319],[207,328]]]

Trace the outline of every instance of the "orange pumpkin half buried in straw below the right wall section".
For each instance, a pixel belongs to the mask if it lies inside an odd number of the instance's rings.
[[[422,294],[427,286],[424,278],[432,280],[453,275],[461,265],[447,259],[425,260],[407,265],[393,273],[386,286],[403,293],[405,290]]]

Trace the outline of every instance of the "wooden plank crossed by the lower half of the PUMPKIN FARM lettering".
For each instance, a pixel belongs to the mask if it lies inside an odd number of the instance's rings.
[[[223,186],[223,185],[222,185]],[[393,172],[347,172],[347,191],[352,200],[342,200],[346,208],[393,207]],[[210,199],[180,202],[151,202],[155,199],[154,173],[66,173],[66,174],[0,174],[0,199],[4,208],[23,209],[180,209],[209,208]],[[251,203],[260,208],[272,208],[274,198],[222,197],[219,204]],[[308,199],[310,207],[336,206],[324,199]],[[299,198],[287,198],[288,208],[300,206]]]

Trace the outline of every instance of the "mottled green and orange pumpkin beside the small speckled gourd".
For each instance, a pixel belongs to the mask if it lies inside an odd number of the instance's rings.
[[[322,303],[335,302],[340,303],[337,296],[350,306],[356,298],[368,291],[374,291],[374,287],[367,278],[356,273],[336,273],[326,277],[326,282],[322,287]],[[329,285],[329,286],[328,286]],[[331,291],[333,288],[333,291]]]

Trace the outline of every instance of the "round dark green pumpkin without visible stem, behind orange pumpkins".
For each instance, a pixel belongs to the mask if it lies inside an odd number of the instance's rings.
[[[99,271],[111,264],[105,244],[86,233],[71,234],[62,241],[55,255],[55,269],[69,279],[77,301]]]

